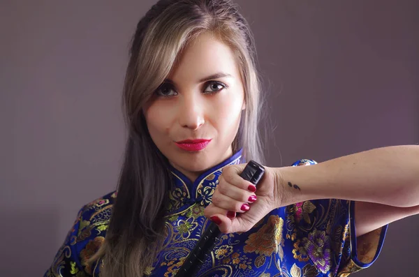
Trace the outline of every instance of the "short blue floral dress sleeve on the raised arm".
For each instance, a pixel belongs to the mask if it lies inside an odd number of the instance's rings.
[[[299,160],[293,166],[315,163]],[[354,212],[355,202],[337,199],[288,207],[287,238],[293,240],[294,259],[314,264],[322,276],[346,277],[369,267],[381,251],[388,225],[357,238]]]

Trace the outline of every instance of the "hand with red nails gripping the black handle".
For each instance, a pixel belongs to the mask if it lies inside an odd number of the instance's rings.
[[[204,215],[219,225],[223,233],[247,232],[270,211],[281,207],[278,169],[265,167],[265,175],[256,189],[251,182],[240,177],[245,166],[224,167],[212,195],[212,204],[204,211]]]

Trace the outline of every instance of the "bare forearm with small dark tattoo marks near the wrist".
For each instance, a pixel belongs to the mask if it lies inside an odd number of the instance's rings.
[[[280,167],[281,206],[335,198],[395,207],[419,205],[419,146],[383,147],[317,165]]]

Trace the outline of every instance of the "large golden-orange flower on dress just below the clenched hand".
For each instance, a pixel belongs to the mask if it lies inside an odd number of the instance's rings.
[[[279,216],[270,216],[267,223],[260,227],[258,232],[249,236],[245,241],[244,252],[256,253],[265,256],[270,256],[272,253],[278,253],[281,248],[282,230],[284,227],[284,220]],[[282,252],[282,251],[280,251]]]

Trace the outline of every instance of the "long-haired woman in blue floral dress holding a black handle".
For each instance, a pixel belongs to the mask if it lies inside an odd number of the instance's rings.
[[[347,276],[374,262],[387,224],[419,211],[418,147],[266,167],[256,189],[239,177],[263,163],[254,53],[230,1],[147,12],[117,191],[80,210],[45,276],[175,276],[211,220],[224,234],[198,276]]]

